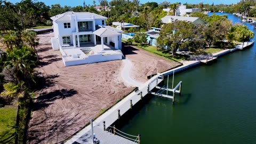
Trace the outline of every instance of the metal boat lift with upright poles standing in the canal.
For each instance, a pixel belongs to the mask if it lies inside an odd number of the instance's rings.
[[[163,75],[162,75],[163,77]],[[158,78],[157,78],[158,79]],[[180,81],[174,88],[173,88],[173,84],[174,84],[174,71],[172,74],[172,89],[169,89],[169,75],[167,75],[167,86],[165,87],[162,86],[158,86],[156,85],[156,89],[159,89],[157,92],[149,92],[150,94],[154,94],[157,95],[159,97],[165,97],[165,98],[170,98],[172,99],[172,104],[174,105],[174,99],[175,99],[175,93],[179,93],[179,95],[181,95],[181,88],[182,88],[182,81]],[[179,90],[177,90],[179,88]],[[163,92],[166,91],[166,94],[163,94]],[[168,92],[172,92],[172,95],[169,95]]]

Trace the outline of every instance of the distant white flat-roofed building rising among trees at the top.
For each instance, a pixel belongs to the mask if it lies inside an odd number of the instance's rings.
[[[175,11],[175,15],[178,16],[184,16],[186,14],[191,14],[193,12],[200,12],[201,9],[186,9],[186,5],[179,5],[178,9]],[[163,9],[163,11],[166,11],[167,13],[172,12],[172,10],[170,8],[167,9]]]

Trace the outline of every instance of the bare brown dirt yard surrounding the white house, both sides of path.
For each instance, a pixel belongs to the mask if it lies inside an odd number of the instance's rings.
[[[121,60],[64,67],[60,52],[51,48],[52,36],[38,35],[41,66],[29,143],[63,143],[133,89],[123,82]],[[178,65],[132,47],[125,54],[134,64],[132,77],[141,82],[157,67],[163,71]]]

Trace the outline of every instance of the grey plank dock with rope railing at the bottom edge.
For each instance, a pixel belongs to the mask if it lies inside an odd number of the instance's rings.
[[[100,143],[104,144],[134,144],[132,140],[125,139],[120,137],[119,135],[114,135],[111,132],[103,131],[98,126],[93,127],[93,133],[95,133],[95,137],[100,140]],[[81,138],[76,140],[77,143],[80,144],[92,144],[92,133],[91,131],[82,135]]]

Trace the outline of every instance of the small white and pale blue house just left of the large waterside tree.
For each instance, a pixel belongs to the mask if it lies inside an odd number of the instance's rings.
[[[152,29],[148,30],[146,32],[147,34],[147,42],[149,45],[153,45],[156,46],[157,44],[157,37],[159,37],[159,33],[161,31],[161,28],[154,28],[152,27]]]

